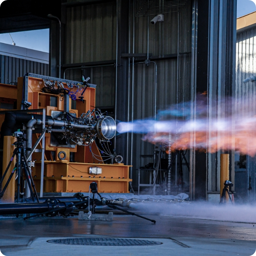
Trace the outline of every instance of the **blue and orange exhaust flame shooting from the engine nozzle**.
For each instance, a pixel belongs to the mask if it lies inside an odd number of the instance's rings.
[[[171,151],[194,147],[216,152],[238,150],[242,154],[256,154],[256,97],[250,99],[225,98],[207,102],[197,95],[195,118],[191,119],[192,104],[185,102],[159,111],[154,119],[121,122],[119,133],[142,133],[143,140],[163,144]]]

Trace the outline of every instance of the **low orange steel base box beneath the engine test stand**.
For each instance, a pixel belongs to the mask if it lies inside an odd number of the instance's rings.
[[[63,161],[45,161],[44,192],[88,192],[91,182],[97,182],[100,193],[129,193],[129,167],[124,164],[90,164]],[[93,175],[89,168],[102,168],[102,174]],[[32,168],[36,189],[40,189],[41,162]]]

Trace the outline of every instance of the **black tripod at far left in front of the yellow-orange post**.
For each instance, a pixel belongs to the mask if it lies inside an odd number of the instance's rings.
[[[14,169],[12,170],[5,186],[3,187],[2,191],[0,192],[0,199],[3,197],[3,194],[4,194],[7,186],[9,185],[10,180],[12,179],[12,176],[14,175],[15,172],[17,172],[17,175],[18,175],[17,176],[17,202],[20,201],[20,195],[21,195],[21,197],[23,197],[23,171],[22,170],[24,170],[24,174],[26,176],[26,180],[28,183],[28,187],[29,187],[29,190],[31,193],[32,200],[33,200],[33,202],[35,202],[35,197],[36,197],[37,202],[39,202],[38,195],[36,194],[35,183],[33,182],[33,179],[31,176],[31,171],[28,166],[28,161],[27,161],[25,153],[24,153],[23,142],[26,141],[26,139],[24,138],[23,133],[20,131],[14,133],[14,134],[15,134],[15,137],[17,138],[17,141],[14,142],[14,145],[16,146],[16,148],[14,149],[14,152],[12,154],[10,162],[7,165],[7,168],[0,180],[1,186],[2,186],[3,179],[5,178],[5,175],[7,174],[8,170],[10,168],[10,165],[14,159],[14,156],[16,156],[16,164],[15,164]],[[33,193],[31,185],[33,187],[34,193]]]

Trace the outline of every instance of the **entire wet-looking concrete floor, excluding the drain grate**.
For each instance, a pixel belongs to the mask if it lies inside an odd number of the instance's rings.
[[[114,215],[113,221],[72,218],[0,218],[0,249],[5,256],[52,255],[244,255],[256,251],[256,224],[147,216]],[[145,238],[156,246],[71,246],[47,240],[67,237]]]

